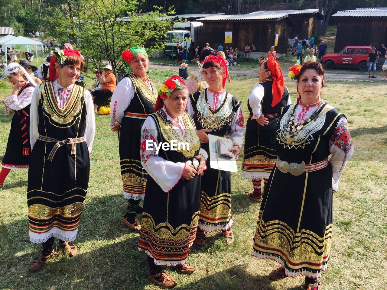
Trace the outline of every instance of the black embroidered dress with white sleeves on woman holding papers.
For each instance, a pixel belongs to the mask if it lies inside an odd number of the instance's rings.
[[[233,145],[241,148],[245,123],[240,101],[236,97],[226,91],[217,94],[205,89],[190,96],[187,106],[197,130],[211,129],[209,134],[229,137]],[[202,148],[209,154],[209,143],[202,143]],[[228,230],[232,224],[231,172],[212,169],[207,159],[207,170],[202,176],[198,227],[205,232],[213,232]]]

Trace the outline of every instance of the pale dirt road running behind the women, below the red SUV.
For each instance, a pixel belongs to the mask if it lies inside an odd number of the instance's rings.
[[[156,63],[149,63],[149,68],[158,68],[161,70],[173,70],[174,72],[178,72],[178,67],[172,67],[171,65],[159,65]],[[192,70],[192,68],[189,68]],[[235,70],[232,67],[229,69],[231,77],[233,75],[257,75],[257,70]],[[378,72],[377,72],[378,73]],[[325,71],[325,78],[327,80],[366,80],[372,82],[382,82],[381,73],[376,75],[377,78],[368,78],[367,72],[358,72],[358,73],[341,73],[341,72],[327,72]],[[285,74],[285,72],[284,72]],[[287,74],[287,72],[286,72]],[[386,82],[386,81],[383,81]],[[386,82],[387,83],[387,82]]]

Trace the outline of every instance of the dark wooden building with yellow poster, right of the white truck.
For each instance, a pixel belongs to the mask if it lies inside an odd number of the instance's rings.
[[[217,15],[198,19],[203,23],[203,42],[213,48],[219,44],[231,45],[240,51],[246,44],[254,44],[257,52],[267,52],[275,44],[278,34],[276,51],[286,53],[289,28],[295,24],[293,19],[288,13],[260,12],[258,15]],[[232,32],[231,43],[225,43],[225,32]]]

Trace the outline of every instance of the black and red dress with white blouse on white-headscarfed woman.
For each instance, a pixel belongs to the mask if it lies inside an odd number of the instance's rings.
[[[27,82],[19,89],[17,96],[10,96],[4,100],[6,113],[12,113],[11,130],[9,131],[7,149],[2,167],[9,169],[27,170],[31,153],[29,141],[29,111],[31,98],[35,87]]]

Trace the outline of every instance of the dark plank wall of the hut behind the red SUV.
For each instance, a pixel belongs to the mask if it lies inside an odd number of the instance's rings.
[[[387,17],[337,17],[334,52],[348,45],[387,44]]]

